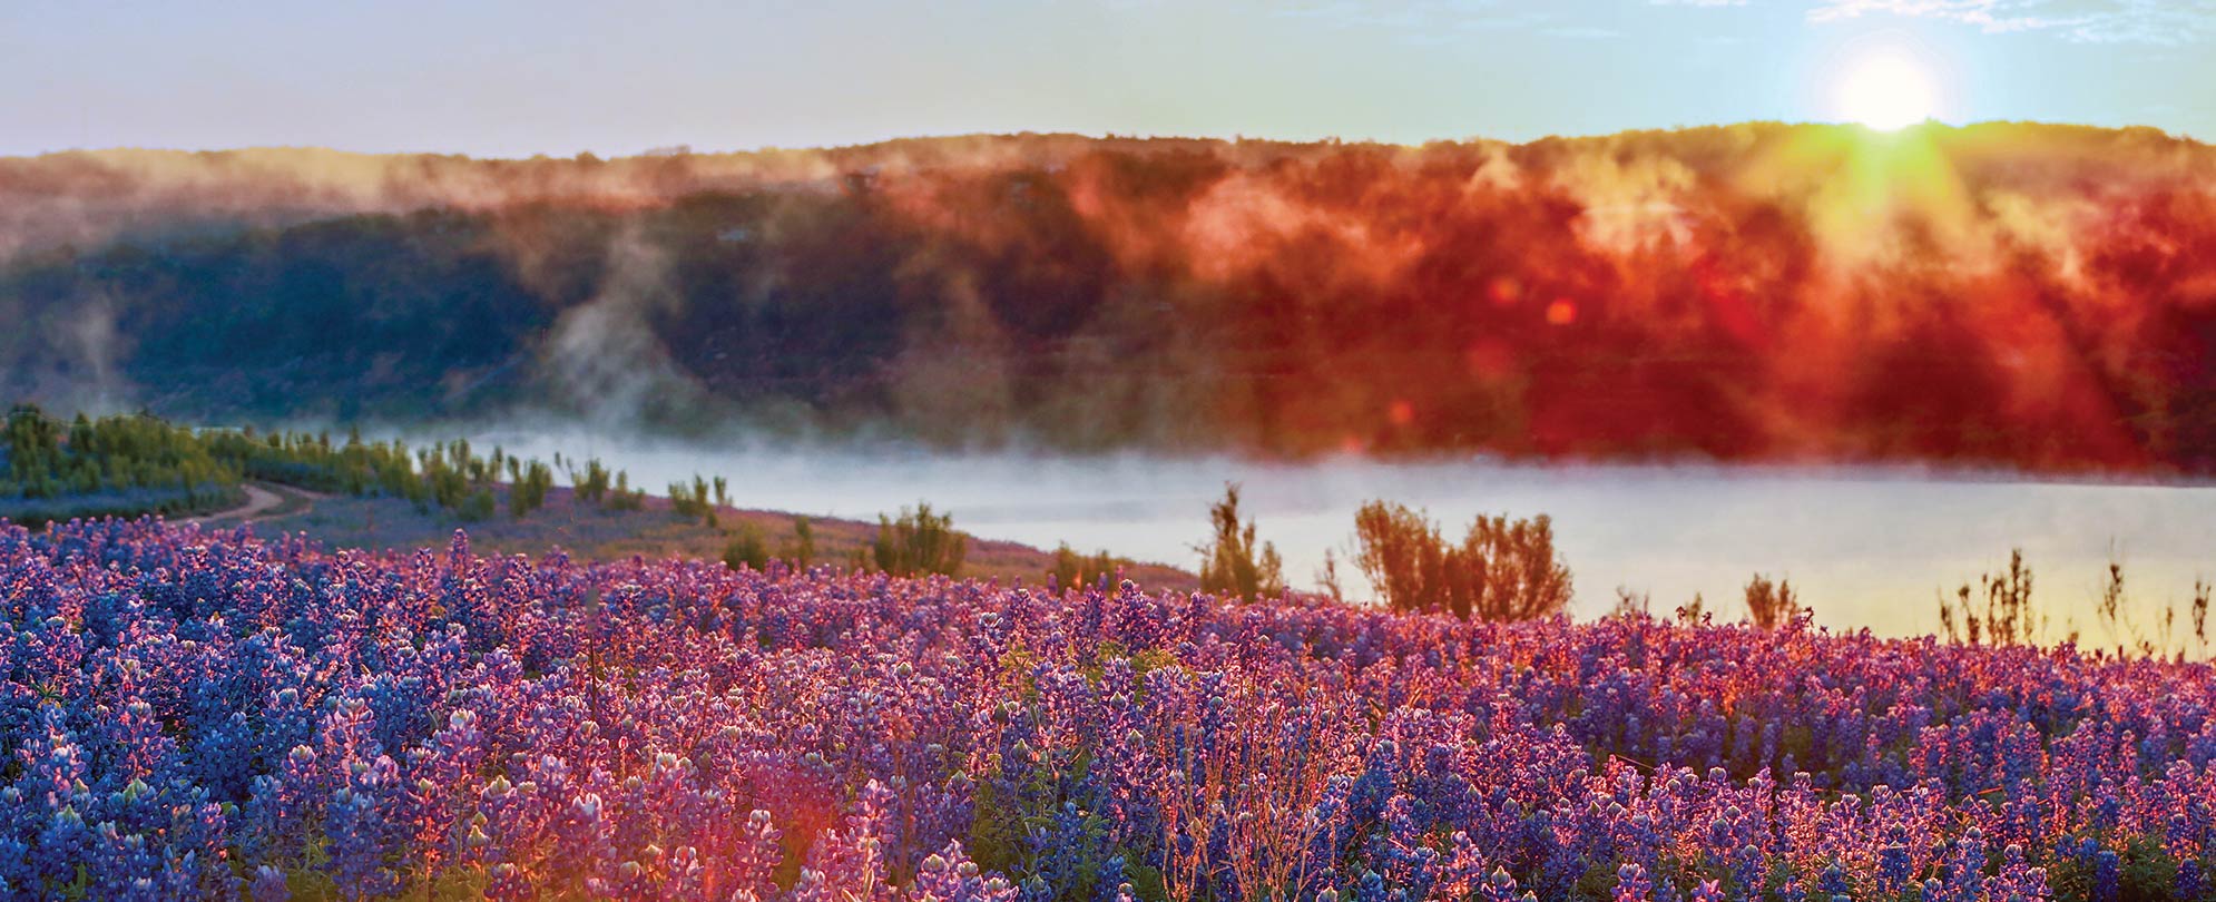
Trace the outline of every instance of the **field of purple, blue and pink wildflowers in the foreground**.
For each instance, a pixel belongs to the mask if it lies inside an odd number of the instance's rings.
[[[0,527],[0,893],[2209,900],[2209,665]]]

